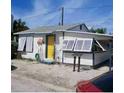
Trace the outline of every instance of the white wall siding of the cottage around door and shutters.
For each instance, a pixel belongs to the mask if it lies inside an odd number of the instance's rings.
[[[33,40],[33,52],[32,53],[23,53],[22,57],[23,58],[30,58],[30,59],[35,59],[35,54],[38,52],[38,44],[37,40],[39,38],[44,39],[44,44],[43,44],[43,58],[45,58],[46,55],[46,35],[32,35],[34,38]],[[63,45],[63,33],[58,32],[56,33],[56,41],[55,41],[55,60],[62,62],[62,56],[64,57],[64,63],[72,63],[73,64],[73,56],[72,53],[62,55],[62,45]],[[86,35],[86,34],[78,34],[78,33],[64,33],[64,39],[82,39],[82,38],[95,38],[97,40],[100,39],[111,39],[111,38],[106,38],[104,36],[95,36],[95,35]],[[110,53],[103,52],[103,53],[96,53],[95,54],[95,64],[100,63],[101,61],[106,60],[109,57]],[[93,65],[93,58],[92,54],[83,54],[81,56],[81,65]]]

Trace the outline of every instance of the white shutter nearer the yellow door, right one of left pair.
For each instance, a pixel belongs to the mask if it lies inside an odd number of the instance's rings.
[[[26,52],[32,52],[33,51],[33,37],[28,36],[26,41]]]

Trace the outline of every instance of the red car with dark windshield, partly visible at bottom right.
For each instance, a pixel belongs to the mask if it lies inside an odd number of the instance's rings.
[[[76,92],[113,92],[113,71],[91,80],[78,82]]]

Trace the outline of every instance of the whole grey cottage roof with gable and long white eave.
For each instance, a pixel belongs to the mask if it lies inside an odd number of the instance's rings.
[[[83,25],[82,30],[80,30],[80,31],[72,30],[74,27],[77,27],[80,25]],[[49,33],[55,33],[55,32],[69,32],[69,33],[79,33],[79,34],[89,34],[89,35],[113,37],[112,35],[108,35],[108,34],[91,33],[91,32],[89,32],[89,29],[87,28],[87,26],[83,23],[82,24],[63,25],[63,26],[61,26],[61,25],[41,26],[41,27],[37,27],[34,29],[17,32],[14,34],[15,35],[18,35],[18,34],[49,34]]]

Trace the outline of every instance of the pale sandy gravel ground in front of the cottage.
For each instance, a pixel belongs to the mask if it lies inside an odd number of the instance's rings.
[[[90,70],[81,70],[80,72],[73,72],[73,66],[72,65],[66,65],[66,64],[41,64],[37,63],[36,61],[29,61],[29,60],[12,60],[12,65],[16,66],[17,68],[12,71],[12,91],[23,91],[23,87],[20,88],[20,90],[17,90],[17,88],[14,88],[14,84],[18,81],[21,81],[22,79],[15,80],[14,77],[20,76],[20,77],[26,77],[28,80],[35,82],[35,80],[39,82],[45,82],[48,83],[47,85],[53,85],[54,88],[46,88],[42,87],[43,91],[59,91],[55,90],[56,88],[60,88],[60,91],[63,92],[68,89],[70,91],[75,91],[75,85],[80,80],[87,80],[92,79],[96,76],[99,76],[109,70],[107,66],[103,66],[99,69],[90,69]],[[14,76],[13,76],[14,75]],[[17,78],[17,77],[16,77]],[[24,81],[26,81],[24,79]],[[34,81],[33,81],[34,80]],[[23,81],[22,81],[23,82]],[[31,87],[35,88],[36,83],[26,83],[25,85],[32,85]],[[15,84],[16,85],[16,84]],[[43,84],[42,84],[43,85]],[[40,86],[40,85],[39,85]],[[30,90],[27,88],[25,91],[41,91],[39,90],[39,86],[36,87],[36,89]],[[67,90],[67,91],[68,91]]]

